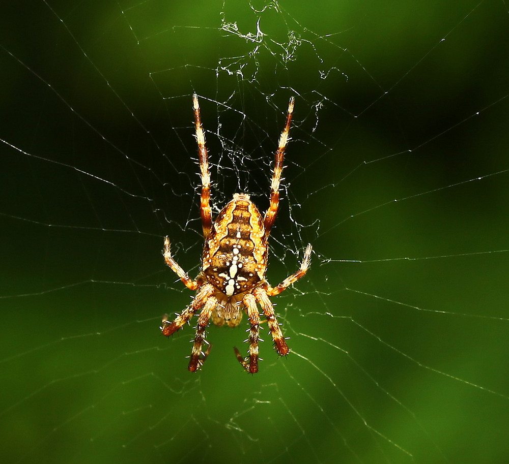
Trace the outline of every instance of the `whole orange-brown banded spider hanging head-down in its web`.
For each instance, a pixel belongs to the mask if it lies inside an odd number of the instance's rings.
[[[268,257],[267,240],[279,206],[279,183],[285,148],[289,139],[293,106],[292,97],[288,104],[285,129],[279,137],[275,153],[270,205],[265,216],[262,218],[258,208],[249,199],[249,195],[236,193],[212,222],[207,148],[200,117],[200,105],[196,94],[193,94],[194,124],[202,180],[200,212],[205,237],[202,268],[195,280],[190,279],[172,257],[169,238],[167,236],[164,238],[163,256],[166,264],[180,277],[187,288],[196,290],[196,295],[173,322],[169,322],[168,316],[164,315],[160,327],[164,335],[172,335],[201,310],[188,366],[191,372],[200,369],[209,354],[210,346],[205,353],[202,351],[202,346],[204,342],[209,345],[205,339],[205,330],[210,318],[216,325],[226,324],[236,327],[242,320],[243,312],[247,312],[249,317],[249,337],[244,341],[249,342],[249,355],[243,358],[239,350],[234,348],[235,355],[247,372],[251,374],[258,372],[258,343],[262,341],[259,337],[258,304],[267,320],[275,350],[280,356],[290,352],[286,338],[279,328],[280,324],[277,322],[269,296],[278,295],[305,275],[310,264],[311,245],[308,244],[306,247],[299,270],[276,287],[271,287],[265,280],[265,271]]]

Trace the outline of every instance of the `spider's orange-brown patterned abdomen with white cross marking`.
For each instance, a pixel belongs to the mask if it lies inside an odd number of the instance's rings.
[[[218,214],[203,251],[202,275],[231,297],[256,286],[267,269],[263,218],[249,195],[235,194]]]

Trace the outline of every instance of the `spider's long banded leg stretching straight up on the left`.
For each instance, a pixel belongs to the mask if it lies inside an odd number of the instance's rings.
[[[212,227],[212,208],[210,207],[210,172],[205,146],[205,134],[200,117],[200,104],[196,94],[192,95],[192,106],[194,110],[194,126],[196,131],[196,143],[198,144],[198,163],[200,165],[200,177],[202,178],[202,194],[200,200],[200,213],[202,215],[203,235],[209,236]]]

